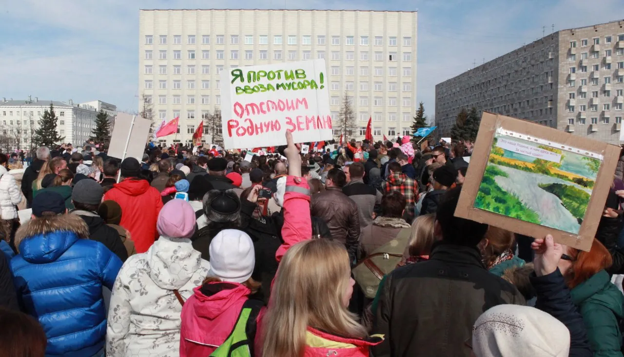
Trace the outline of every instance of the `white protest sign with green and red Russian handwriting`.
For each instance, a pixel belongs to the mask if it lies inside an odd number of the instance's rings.
[[[221,75],[227,149],[332,139],[325,60],[233,68]]]

